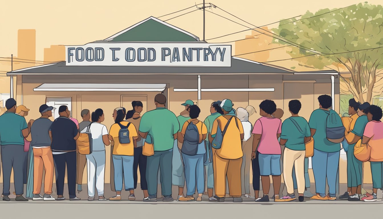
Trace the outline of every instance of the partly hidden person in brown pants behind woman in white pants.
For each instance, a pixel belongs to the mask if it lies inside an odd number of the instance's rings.
[[[82,122],[79,124],[79,132],[81,132],[85,127],[90,125],[90,111],[88,109],[83,109],[81,111]],[[82,191],[82,175],[84,173],[85,165],[87,164],[87,157],[83,154],[80,154],[77,151],[77,175],[76,175],[76,183],[77,183],[77,193]]]

